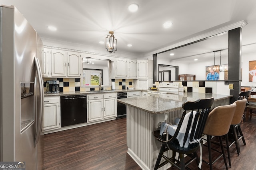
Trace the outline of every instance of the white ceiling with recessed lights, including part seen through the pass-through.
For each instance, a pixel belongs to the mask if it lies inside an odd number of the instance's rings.
[[[256,0],[1,0],[0,3],[16,6],[42,38],[79,43],[106,54],[109,53],[105,44],[99,41],[105,41],[110,30],[117,39],[116,55],[132,53],[139,58],[198,36],[204,30],[242,20],[248,23],[242,28],[242,53],[251,53],[246,50],[252,49],[249,44],[256,43]],[[132,3],[139,5],[135,13],[128,11]],[[165,21],[172,21],[172,27],[163,28]],[[46,28],[48,25],[58,30],[51,32]],[[188,61],[184,57],[227,48],[227,35],[221,37],[216,38],[217,43],[208,40],[177,49],[173,57],[169,52],[161,56]]]

